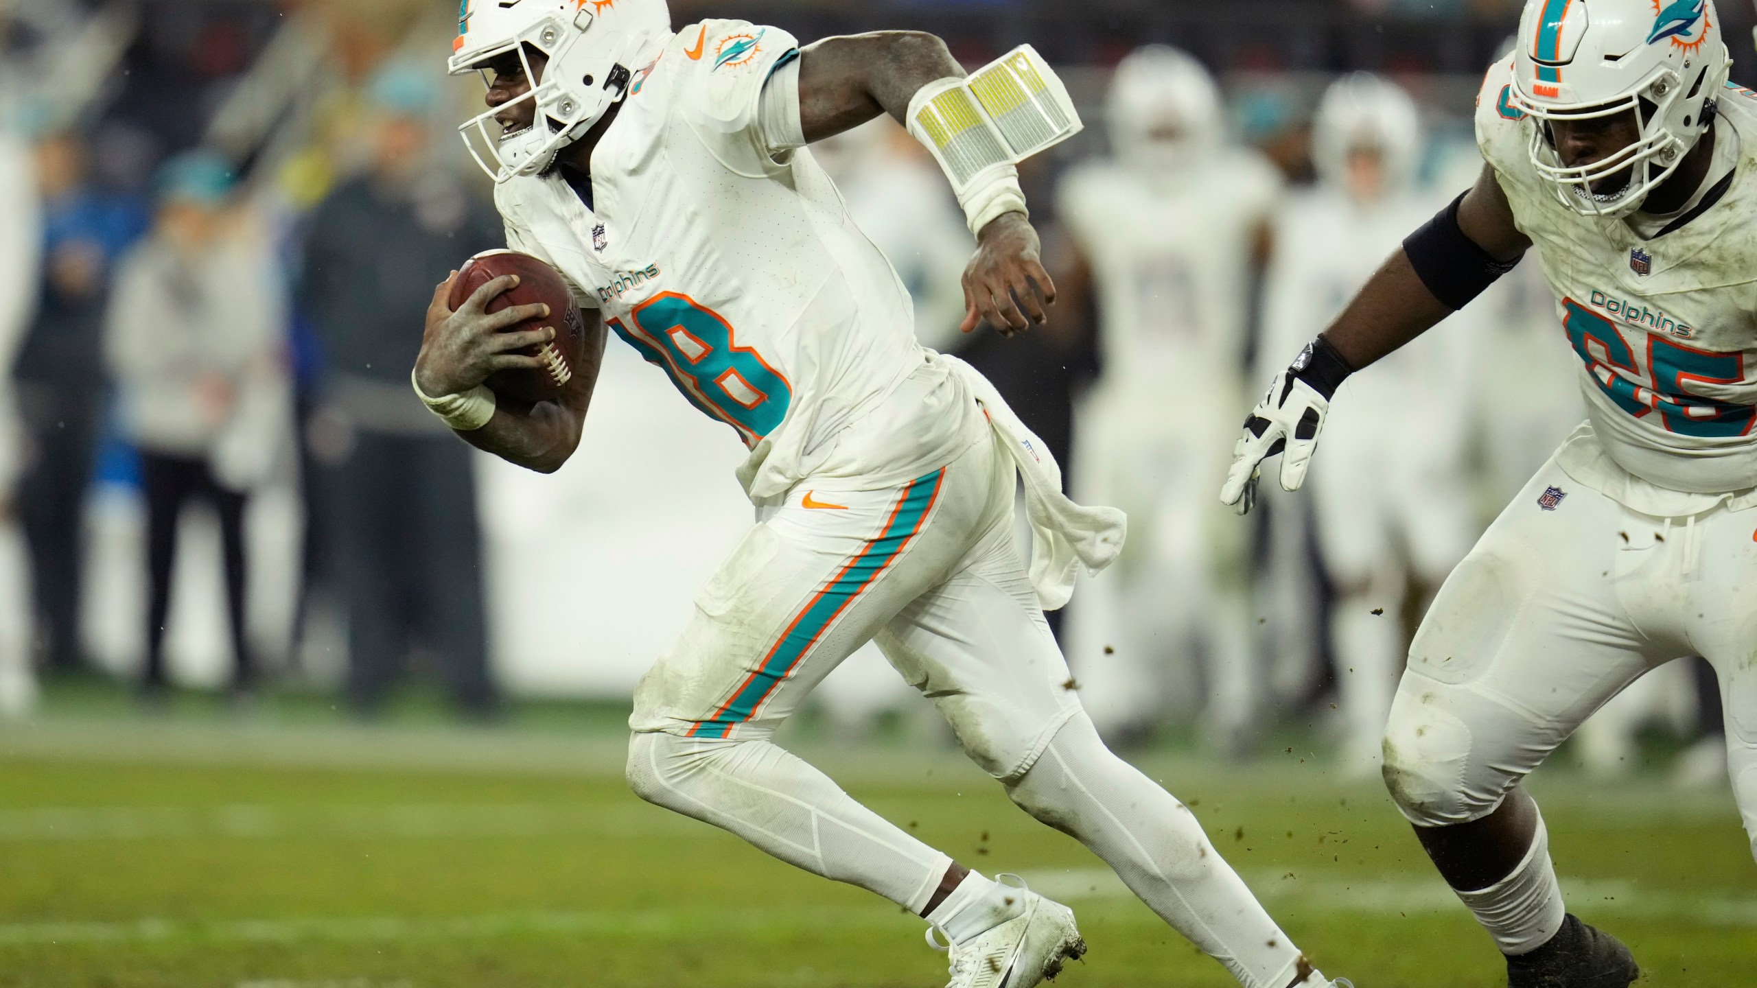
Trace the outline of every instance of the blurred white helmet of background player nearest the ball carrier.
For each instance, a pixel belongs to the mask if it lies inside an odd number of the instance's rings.
[[[1219,88],[1200,62],[1163,44],[1128,54],[1105,102],[1117,156],[1175,167],[1219,142]]]

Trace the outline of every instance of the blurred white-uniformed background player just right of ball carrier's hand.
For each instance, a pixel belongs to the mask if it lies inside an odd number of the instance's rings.
[[[1105,737],[1137,737],[1200,682],[1209,730],[1237,751],[1256,682],[1242,538],[1212,503],[1244,371],[1249,271],[1281,192],[1256,151],[1226,146],[1219,90],[1189,54],[1124,58],[1107,100],[1114,156],[1058,190],[1096,295],[1102,374],[1079,404],[1074,489],[1117,505],[1130,541],[1068,617],[1082,700]],[[1086,281],[1086,280],[1081,280]],[[1165,415],[1175,389],[1177,415]]]

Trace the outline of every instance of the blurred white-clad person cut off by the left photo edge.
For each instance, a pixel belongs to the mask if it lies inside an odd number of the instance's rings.
[[[30,148],[0,120],[0,717],[21,717],[35,703],[30,668],[30,568],[14,513],[23,468],[23,436],[12,396],[12,357],[37,304],[42,218]]]

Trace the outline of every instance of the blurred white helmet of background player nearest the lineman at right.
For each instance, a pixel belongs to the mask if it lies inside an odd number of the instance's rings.
[[[1312,167],[1327,185],[1346,188],[1349,155],[1379,155],[1385,188],[1407,186],[1421,160],[1421,114],[1402,86],[1370,72],[1351,72],[1325,90],[1312,116]]]

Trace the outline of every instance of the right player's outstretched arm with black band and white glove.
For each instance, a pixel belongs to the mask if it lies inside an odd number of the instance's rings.
[[[1342,380],[1464,308],[1527,246],[1495,171],[1485,165],[1476,185],[1404,239],[1342,315],[1276,374],[1244,420],[1219,499],[1249,512],[1263,461],[1281,452],[1281,489],[1298,490]]]

